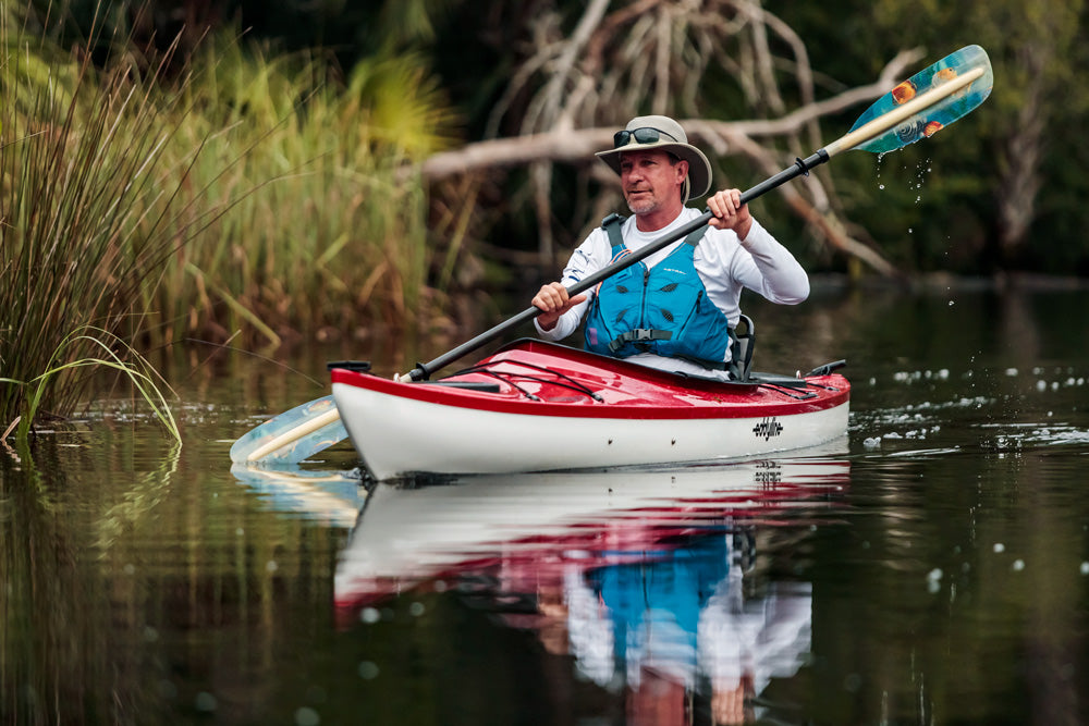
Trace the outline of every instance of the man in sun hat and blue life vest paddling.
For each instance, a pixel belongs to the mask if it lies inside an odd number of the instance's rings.
[[[638,116],[613,140],[597,156],[620,175],[632,217],[607,218],[571,256],[561,281],[534,296],[542,310],[537,330],[559,341],[585,316],[589,350],[726,378],[742,288],[795,305],[809,296],[809,278],[741,204],[741,192],[724,189],[707,200],[709,226],[568,297],[566,287],[699,217],[685,204],[711,188],[710,162],[673,119]]]

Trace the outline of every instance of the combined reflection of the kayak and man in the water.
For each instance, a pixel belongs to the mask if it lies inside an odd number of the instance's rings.
[[[745,723],[810,648],[811,586],[771,577],[762,550],[848,477],[820,457],[378,484],[340,556],[339,620],[454,591],[622,693],[631,723]]]

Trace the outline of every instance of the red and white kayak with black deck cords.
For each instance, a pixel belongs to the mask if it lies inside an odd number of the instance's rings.
[[[815,446],[847,430],[851,384],[831,368],[720,381],[531,339],[436,381],[403,382],[330,364],[341,420],[379,481],[680,464]]]

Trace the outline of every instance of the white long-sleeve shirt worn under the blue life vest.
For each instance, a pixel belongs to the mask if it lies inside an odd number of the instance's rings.
[[[636,226],[635,216],[632,216],[624,221],[621,233],[627,248],[637,253],[699,216],[699,210],[686,207],[673,222],[653,232],[640,231]],[[683,238],[650,255],[643,262],[653,267],[681,244],[684,244]],[[609,234],[598,227],[572,254],[560,282],[565,287],[571,287],[609,264],[611,259]],[[708,227],[696,247],[693,262],[707,290],[708,299],[722,310],[731,327],[736,325],[741,317],[741,295],[745,287],[772,303],[784,305],[796,305],[809,296],[809,276],[805,269],[755,218],[745,239],[738,239],[732,230]],[[546,340],[560,341],[575,332],[589,309],[595,291],[587,291],[586,294],[586,300],[561,316],[552,330],[541,330],[540,323],[535,320],[538,334]],[[632,356],[627,360],[665,370],[702,376],[708,373],[694,362],[649,353]],[[729,349],[725,360],[730,360]]]

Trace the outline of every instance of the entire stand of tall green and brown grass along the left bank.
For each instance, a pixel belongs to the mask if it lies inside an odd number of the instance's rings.
[[[11,9],[0,429],[68,413],[88,380],[72,364],[101,359],[102,341],[139,371],[137,345],[278,346],[426,315],[426,199],[411,170],[450,118],[421,61],[375,59],[341,82],[320,54],[228,34],[185,63],[168,51],[148,64],[110,39],[96,67]]]

